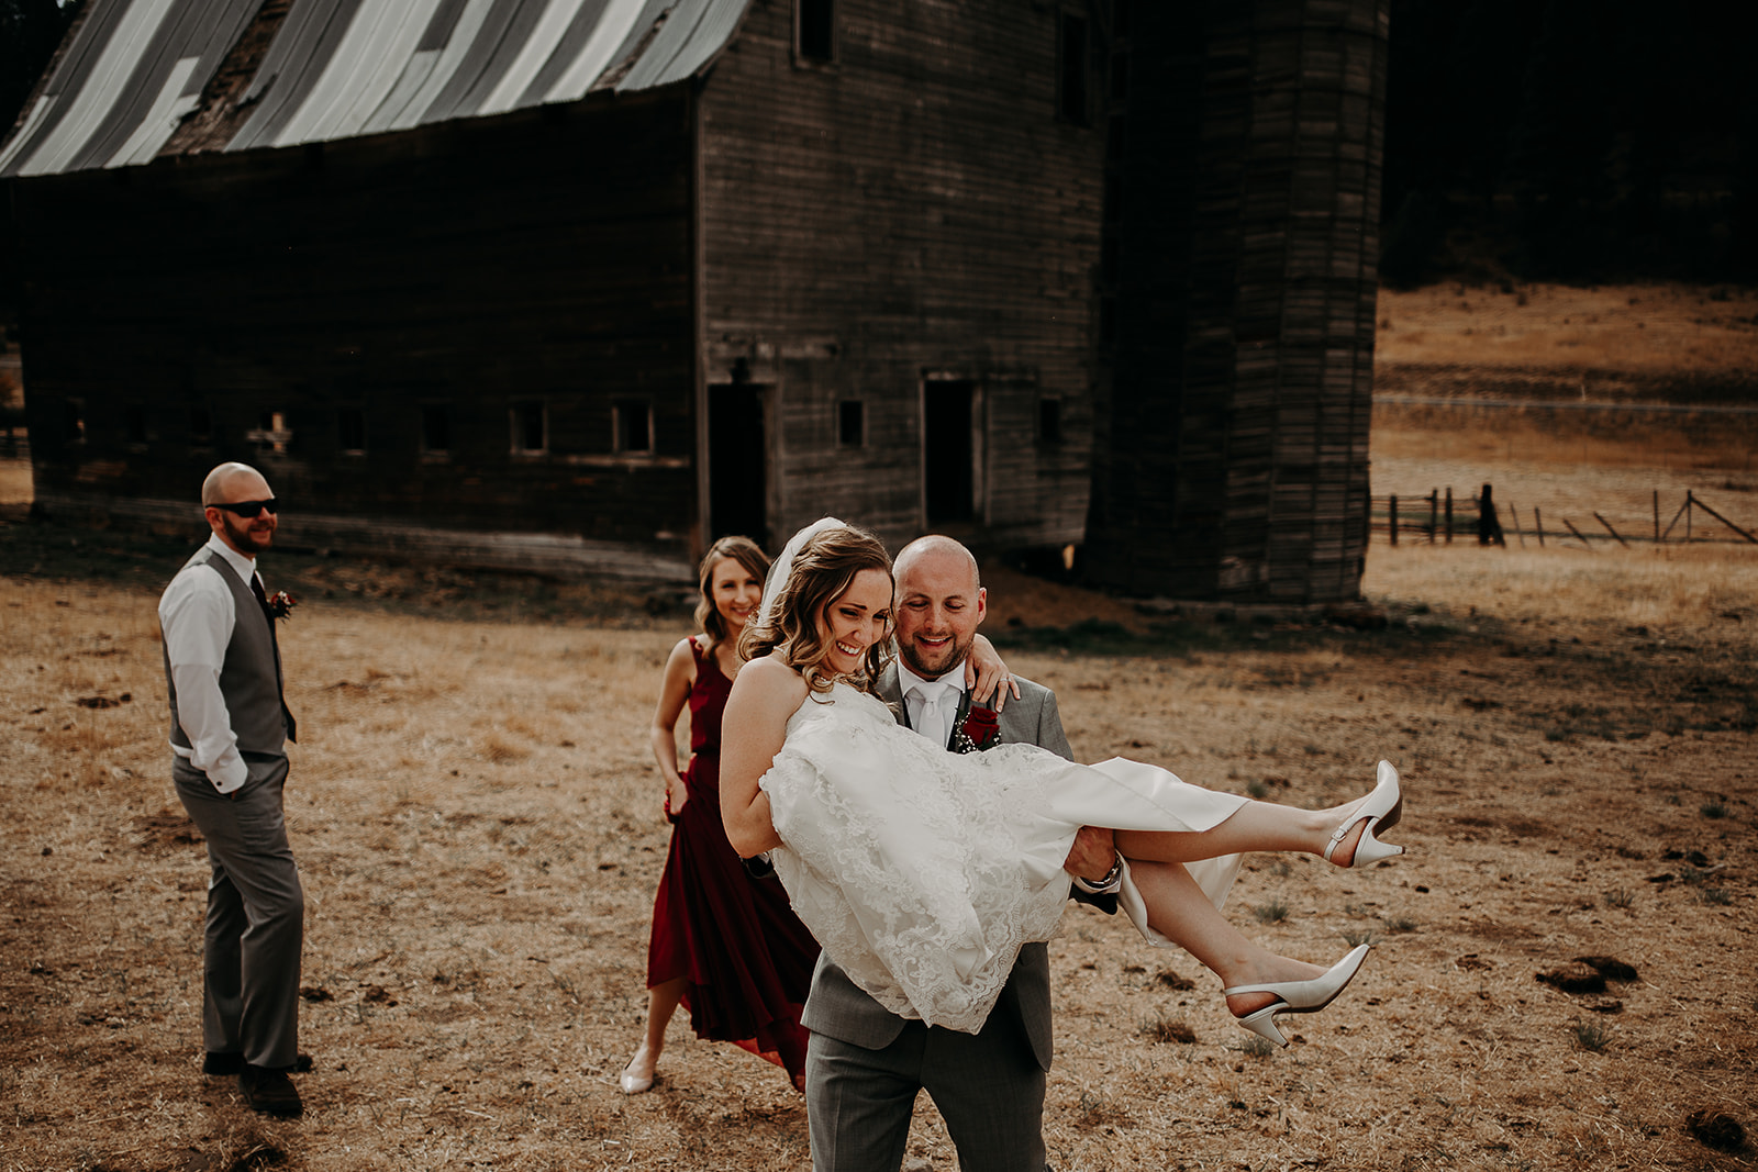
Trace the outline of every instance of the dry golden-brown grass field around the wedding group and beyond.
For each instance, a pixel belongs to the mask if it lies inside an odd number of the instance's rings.
[[[1375,492],[1491,480],[1549,517],[1689,487],[1758,522],[1739,443],[1679,467],[1630,459],[1638,436],[1587,464],[1477,439],[1387,422]],[[1282,951],[1377,944],[1287,1051],[1252,1045],[1188,956],[1071,907],[1057,1168],[1758,1160],[1733,1135],[1758,1126],[1758,546],[1510,543],[1382,538],[1377,631],[1167,624],[988,571],[990,631],[1057,689],[1083,757],[1324,805],[1384,756],[1408,787],[1410,854],[1253,856],[1234,889],[1234,921]],[[807,1167],[781,1072],[682,1017],[656,1091],[617,1091],[666,847],[649,706],[689,627],[584,585],[264,561],[304,599],[283,648],[316,1070],[299,1121],[204,1081],[206,872],[153,619],[186,552],[0,522],[0,1170]],[[926,1102],[907,1165],[956,1167]]]

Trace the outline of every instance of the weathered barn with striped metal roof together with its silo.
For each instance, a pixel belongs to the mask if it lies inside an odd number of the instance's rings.
[[[1317,606],[1389,0],[91,0],[7,144],[37,501],[689,576],[837,513]]]

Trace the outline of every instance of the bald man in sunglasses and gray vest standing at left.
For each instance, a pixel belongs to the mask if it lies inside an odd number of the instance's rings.
[[[257,555],[274,541],[269,481],[222,464],[202,481],[207,538],[158,601],[171,696],[171,775],[207,840],[202,947],[204,1074],[237,1074],[253,1111],[297,1116],[299,958],[306,896],[287,843],[281,789],[294,717],[281,694],[274,619]]]

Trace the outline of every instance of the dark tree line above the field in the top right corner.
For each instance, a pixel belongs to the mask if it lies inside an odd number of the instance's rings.
[[[1758,274],[1758,5],[1392,0],[1382,276]]]

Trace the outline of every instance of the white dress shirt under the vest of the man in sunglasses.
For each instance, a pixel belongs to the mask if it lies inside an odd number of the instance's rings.
[[[227,559],[244,582],[257,576],[257,559],[244,557],[220,534],[207,538],[207,548]],[[158,627],[165,633],[171,678],[178,685],[178,717],[192,745],[171,749],[206,773],[222,794],[250,780],[232,733],[232,715],[220,694],[220,668],[225,666],[236,620],[232,590],[207,566],[181,569],[158,599]]]

